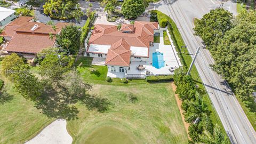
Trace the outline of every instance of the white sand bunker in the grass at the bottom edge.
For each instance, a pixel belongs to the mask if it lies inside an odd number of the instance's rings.
[[[65,119],[57,119],[26,144],[71,144],[73,139],[66,127],[67,121]]]

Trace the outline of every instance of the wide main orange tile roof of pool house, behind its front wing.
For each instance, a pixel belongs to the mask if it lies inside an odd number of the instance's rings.
[[[89,44],[112,45],[124,38],[131,46],[149,48],[149,42],[154,42],[154,29],[158,29],[157,22],[135,21],[133,33],[123,33],[113,25],[95,25]]]

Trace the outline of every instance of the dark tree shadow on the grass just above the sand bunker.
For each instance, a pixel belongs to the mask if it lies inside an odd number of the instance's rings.
[[[107,99],[89,94],[85,94],[81,98],[75,98],[71,103],[70,98],[68,98],[69,100],[66,99],[56,94],[55,91],[47,92],[35,102],[35,107],[41,109],[42,113],[49,118],[73,120],[78,119],[79,110],[73,105],[78,101],[85,104],[89,110],[98,110],[99,112],[107,111],[109,105],[111,105]]]

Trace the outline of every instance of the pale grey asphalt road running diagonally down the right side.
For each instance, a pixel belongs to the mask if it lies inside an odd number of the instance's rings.
[[[220,3],[215,0],[164,0],[150,7],[170,15],[177,24],[191,57],[194,57],[197,47],[203,47],[203,44],[201,38],[194,36],[193,18],[202,18],[211,9],[219,7]],[[223,8],[236,15],[235,3],[225,2]],[[201,49],[195,66],[231,143],[256,143],[256,132],[226,81],[210,68],[209,65],[213,63],[210,52]]]

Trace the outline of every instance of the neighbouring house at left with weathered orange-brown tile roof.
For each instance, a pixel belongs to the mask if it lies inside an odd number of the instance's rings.
[[[46,47],[57,46],[55,38],[50,38],[50,33],[55,36],[66,25],[70,23],[59,22],[54,30],[50,25],[33,22],[33,17],[20,17],[7,25],[0,35],[7,41],[4,51],[35,55]]]

